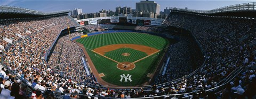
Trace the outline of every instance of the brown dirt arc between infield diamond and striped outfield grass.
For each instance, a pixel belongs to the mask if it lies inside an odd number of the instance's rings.
[[[142,46],[139,44],[110,44],[108,46],[103,46],[99,48],[93,49],[93,51],[100,53],[101,55],[105,55],[105,52],[113,51],[120,48],[131,48],[134,50],[145,52],[147,55],[151,55],[151,53],[155,53],[158,49]]]

